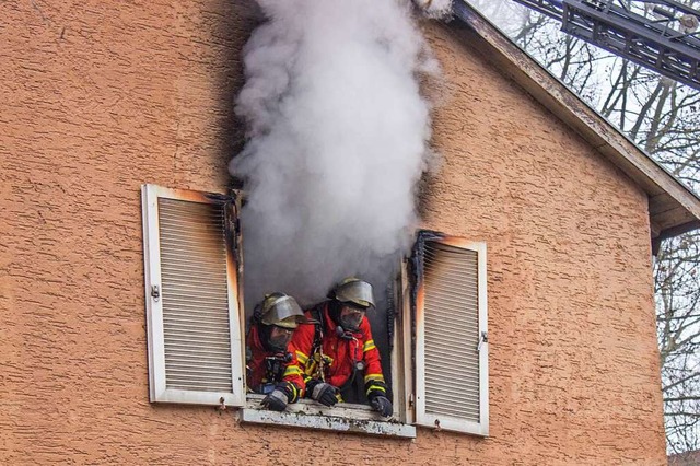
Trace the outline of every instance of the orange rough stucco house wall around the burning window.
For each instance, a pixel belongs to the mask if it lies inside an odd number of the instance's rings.
[[[0,16],[0,463],[664,463],[645,196],[435,26],[424,223],[488,243],[491,436],[150,405],[139,187],[224,189],[255,10],[36,0]]]

